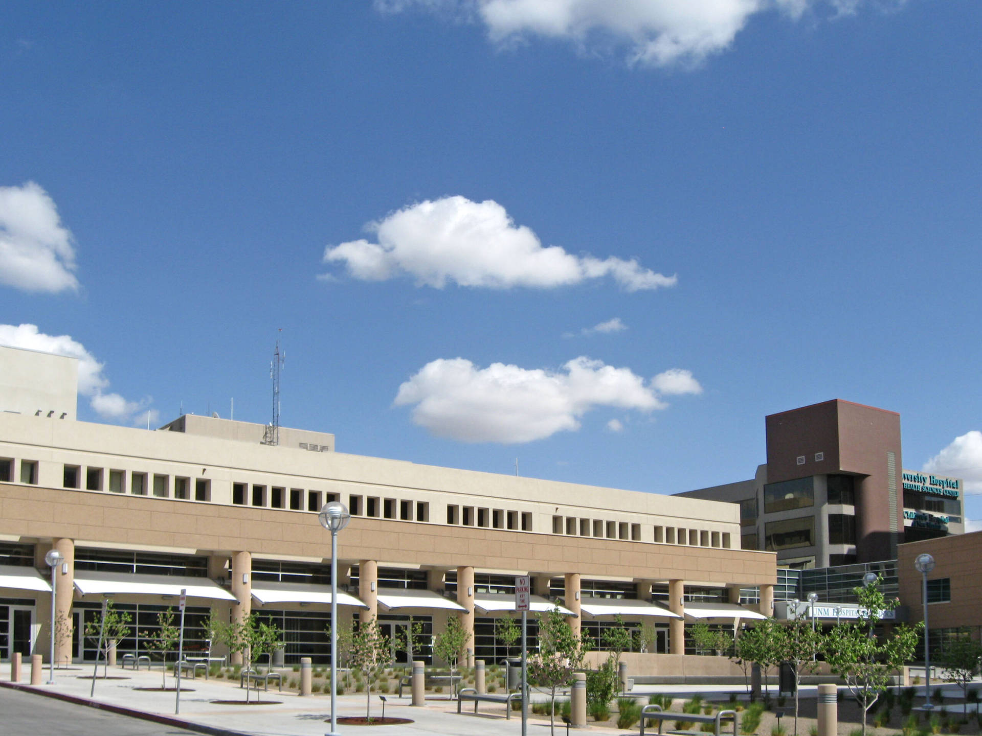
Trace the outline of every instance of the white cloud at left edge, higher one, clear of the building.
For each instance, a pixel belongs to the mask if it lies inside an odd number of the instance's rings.
[[[0,186],[0,284],[22,291],[74,291],[72,234],[48,193],[33,182]]]

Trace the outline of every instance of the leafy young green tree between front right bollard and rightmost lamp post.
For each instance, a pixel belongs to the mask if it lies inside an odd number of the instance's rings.
[[[874,629],[883,611],[896,608],[898,602],[887,601],[875,583],[853,588],[859,602],[859,620],[843,622],[832,629],[825,642],[825,658],[834,674],[846,680],[846,686],[862,709],[862,734],[866,736],[866,714],[880,693],[890,684],[891,675],[913,656],[917,635],[923,622],[914,627],[900,625],[893,636],[878,641]]]

